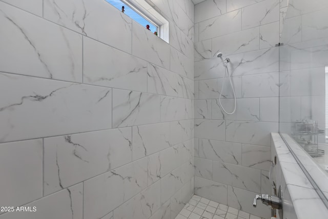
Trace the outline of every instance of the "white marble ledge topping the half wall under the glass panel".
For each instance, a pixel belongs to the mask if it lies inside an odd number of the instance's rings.
[[[285,145],[279,133],[271,133],[272,141],[277,152],[282,174],[286,186],[292,198],[292,203],[298,219],[327,218],[328,209],[325,207],[318,193],[298,165],[289,148]],[[311,157],[307,157],[306,152],[302,151],[297,143],[289,136],[283,134],[288,144],[297,150],[297,154],[302,154],[306,165],[310,164]],[[294,148],[295,147],[295,148]],[[294,150],[294,152],[295,152]],[[299,156],[298,156],[299,157]],[[306,160],[305,160],[306,157]],[[308,159],[310,158],[310,160]],[[302,162],[302,161],[301,161]],[[314,167],[314,166],[313,166]],[[316,168],[319,168],[318,166]],[[320,168],[319,168],[320,169]],[[321,171],[321,170],[317,170]]]

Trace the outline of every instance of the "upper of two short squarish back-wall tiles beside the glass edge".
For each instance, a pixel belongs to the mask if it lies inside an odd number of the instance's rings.
[[[279,43],[279,22],[260,26],[260,49],[275,47]]]

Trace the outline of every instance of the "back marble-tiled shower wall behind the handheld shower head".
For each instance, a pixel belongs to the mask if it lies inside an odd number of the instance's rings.
[[[271,132],[279,122],[279,0],[214,0],[195,5],[195,194],[268,218],[252,200],[271,193]],[[214,57],[222,52],[226,69]]]

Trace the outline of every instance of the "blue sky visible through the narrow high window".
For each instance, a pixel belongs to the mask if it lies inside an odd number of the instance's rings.
[[[146,28],[146,25],[150,26],[150,30],[154,33],[156,31],[156,27],[152,25],[149,21],[147,21],[144,17],[142,17],[140,14],[132,10],[129,6],[126,4],[122,3],[120,0],[106,0],[106,2],[110,3],[113,5],[115,8],[121,11],[122,6],[125,7],[125,14],[134,19],[134,21],[138,22],[141,24],[143,27]]]

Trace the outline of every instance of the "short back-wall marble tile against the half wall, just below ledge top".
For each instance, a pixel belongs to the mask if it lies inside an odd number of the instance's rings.
[[[271,148],[267,146],[242,144],[241,165],[261,170],[270,170]]]

